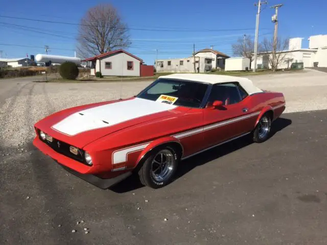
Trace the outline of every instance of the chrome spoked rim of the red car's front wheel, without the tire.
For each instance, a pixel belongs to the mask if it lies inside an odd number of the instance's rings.
[[[155,181],[169,179],[174,170],[174,155],[170,150],[161,150],[155,155],[151,163],[151,174]]]

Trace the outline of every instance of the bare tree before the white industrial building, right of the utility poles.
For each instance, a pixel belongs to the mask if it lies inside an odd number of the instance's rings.
[[[263,46],[263,54],[265,54],[268,57],[268,62],[271,66],[271,69],[275,72],[278,68],[278,65],[281,64],[281,62],[285,62],[285,56],[287,53],[282,52],[287,50],[289,45],[289,39],[280,39],[277,38],[276,44],[275,44],[275,51],[274,50],[274,39],[268,40],[265,38],[262,42]]]

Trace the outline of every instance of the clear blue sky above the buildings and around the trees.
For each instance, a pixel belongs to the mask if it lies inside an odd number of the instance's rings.
[[[6,2],[0,15],[79,23],[88,8],[98,3],[111,3],[116,7],[128,27],[162,31],[130,30],[132,45],[128,51],[153,64],[156,58],[181,58],[196,50],[215,45],[227,55],[232,55],[231,44],[243,34],[254,36],[256,7],[253,0],[195,1],[195,0],[113,0],[113,1],[35,1],[20,0]],[[260,39],[271,37],[273,9],[269,7],[283,3],[279,9],[278,36],[303,37],[302,47],[308,47],[310,35],[327,34],[325,0],[271,0],[263,5],[260,16]],[[8,26],[15,24],[18,26]],[[21,27],[23,26],[23,28]],[[28,27],[28,28],[26,28]],[[201,31],[203,29],[215,31]],[[236,31],[236,29],[243,29]],[[247,30],[244,30],[247,29]],[[34,30],[34,32],[31,32]],[[182,31],[183,30],[183,31]],[[194,30],[194,31],[189,31]],[[221,31],[225,30],[225,31]],[[44,53],[44,45],[50,46],[50,54],[74,56],[77,26],[44,23],[0,17],[0,44],[17,44],[35,47],[0,45],[3,57],[26,57],[26,54]],[[44,34],[47,33],[47,34]]]

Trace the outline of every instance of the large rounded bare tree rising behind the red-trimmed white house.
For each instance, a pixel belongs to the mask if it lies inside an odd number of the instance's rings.
[[[77,37],[79,55],[86,58],[130,45],[128,28],[110,4],[90,8],[80,21]]]

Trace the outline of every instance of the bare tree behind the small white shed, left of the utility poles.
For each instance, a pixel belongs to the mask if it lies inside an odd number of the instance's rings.
[[[254,41],[251,36],[246,36],[244,38],[239,38],[236,43],[231,45],[233,55],[247,57],[250,59],[250,66],[252,62],[252,57],[254,53]],[[262,51],[261,44],[258,44],[258,52]],[[250,67],[251,68],[251,67]]]

